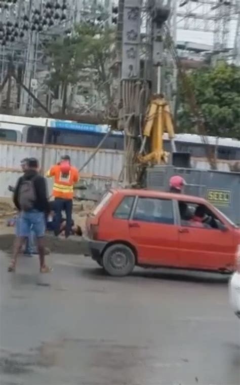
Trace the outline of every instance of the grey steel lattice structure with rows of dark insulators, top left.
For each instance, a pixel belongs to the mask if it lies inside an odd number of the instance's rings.
[[[31,87],[39,66],[41,70],[44,67],[41,61],[44,42],[52,40],[53,36],[72,32],[82,11],[83,0],[0,1],[0,83],[5,78],[11,58],[16,70],[22,68],[23,84]],[[34,94],[37,96],[37,89]],[[21,92],[20,99],[19,111],[22,114],[27,108],[32,111],[33,101],[26,91]]]

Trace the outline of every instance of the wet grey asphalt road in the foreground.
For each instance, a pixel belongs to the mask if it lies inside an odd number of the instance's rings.
[[[136,270],[83,256],[38,274],[1,254],[1,385],[238,385],[240,323],[220,276]]]

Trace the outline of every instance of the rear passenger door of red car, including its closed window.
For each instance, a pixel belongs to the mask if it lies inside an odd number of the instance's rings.
[[[172,200],[138,197],[129,220],[129,233],[140,263],[178,265],[178,228]]]

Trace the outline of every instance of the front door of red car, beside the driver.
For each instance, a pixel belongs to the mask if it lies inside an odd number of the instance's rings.
[[[178,204],[183,202],[178,202]],[[184,202],[190,209],[194,204]],[[197,204],[195,205],[197,206]],[[231,227],[225,226],[214,212],[207,206],[206,213],[212,215],[211,224],[204,224],[184,220],[180,216],[179,257],[182,267],[203,270],[221,270],[232,266],[234,245]],[[181,212],[181,210],[180,210]],[[219,222],[218,222],[219,221]],[[212,226],[215,227],[212,227]],[[219,228],[216,228],[219,225]],[[220,228],[221,227],[221,228]]]

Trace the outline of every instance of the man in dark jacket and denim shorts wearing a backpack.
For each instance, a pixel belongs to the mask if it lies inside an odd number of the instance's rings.
[[[14,204],[19,210],[19,223],[13,259],[9,265],[9,272],[16,268],[17,256],[21,251],[25,239],[33,230],[39,253],[40,272],[49,273],[52,269],[45,264],[45,213],[50,212],[47,185],[45,178],[38,173],[38,161],[35,158],[27,160],[27,170],[16,184]]]

